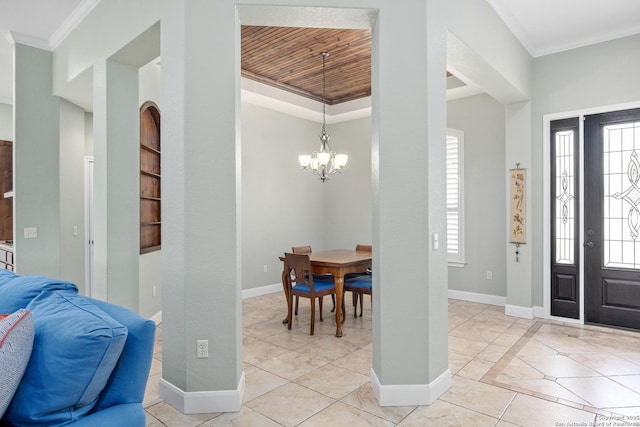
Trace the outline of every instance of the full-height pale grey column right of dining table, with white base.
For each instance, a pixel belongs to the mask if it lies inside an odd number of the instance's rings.
[[[446,10],[442,2],[382,3],[372,52],[371,382],[381,406],[426,405],[451,386]]]

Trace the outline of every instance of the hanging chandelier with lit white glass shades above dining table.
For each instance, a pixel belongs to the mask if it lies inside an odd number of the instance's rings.
[[[326,86],[327,78],[325,73],[325,65],[329,52],[322,52],[322,131],[320,132],[320,151],[314,151],[311,154],[302,154],[298,156],[300,166],[307,172],[318,175],[322,182],[329,179],[329,175],[340,172],[347,164],[349,156],[346,154],[336,154],[329,147],[329,139],[331,136],[325,129],[326,125]]]

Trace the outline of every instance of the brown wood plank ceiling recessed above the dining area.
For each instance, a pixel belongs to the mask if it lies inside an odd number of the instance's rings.
[[[242,76],[328,105],[371,95],[371,30],[242,26]]]

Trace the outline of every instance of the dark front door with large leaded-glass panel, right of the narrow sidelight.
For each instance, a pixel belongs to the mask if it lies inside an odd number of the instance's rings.
[[[640,329],[640,109],[585,116],[585,321]]]

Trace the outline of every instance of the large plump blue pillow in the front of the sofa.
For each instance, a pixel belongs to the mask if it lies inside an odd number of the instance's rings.
[[[9,405],[16,426],[62,426],[87,415],[116,365],[127,328],[72,290],[45,291],[28,306],[31,360]]]

